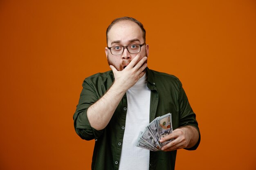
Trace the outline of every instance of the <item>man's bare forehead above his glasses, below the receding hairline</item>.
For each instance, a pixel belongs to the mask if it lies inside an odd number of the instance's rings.
[[[129,40],[138,39],[143,43],[143,33],[135,22],[124,20],[115,23],[108,32],[108,45],[113,41],[128,43]]]

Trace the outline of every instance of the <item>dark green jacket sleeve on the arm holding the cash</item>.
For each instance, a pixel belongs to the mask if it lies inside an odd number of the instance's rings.
[[[200,135],[200,130],[198,128],[198,122],[195,119],[195,113],[193,112],[190,104],[189,104],[189,100],[186,96],[186,93],[184,91],[184,89],[182,88],[182,84],[180,83],[180,94],[179,94],[179,108],[180,108],[180,127],[181,126],[193,126],[198,130],[198,134],[199,134],[199,139],[197,144],[195,144],[195,146],[193,146],[192,148],[185,148],[186,150],[195,150],[196,148],[198,148],[199,144],[200,144],[200,139],[201,139],[201,135]]]

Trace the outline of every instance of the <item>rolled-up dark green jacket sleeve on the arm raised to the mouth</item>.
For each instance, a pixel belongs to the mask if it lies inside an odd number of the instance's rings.
[[[83,81],[83,90],[80,94],[79,103],[76,106],[76,112],[74,113],[74,128],[76,133],[85,140],[97,140],[104,132],[103,130],[96,130],[92,128],[87,117],[88,108],[97,102],[100,98],[97,95],[93,84],[89,79]]]

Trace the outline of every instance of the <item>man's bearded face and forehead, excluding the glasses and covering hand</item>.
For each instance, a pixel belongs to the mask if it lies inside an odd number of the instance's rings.
[[[143,44],[142,31],[139,25],[129,20],[119,21],[112,26],[108,32],[108,46],[127,46],[131,44]],[[139,53],[131,54],[124,49],[124,53],[120,55],[112,55],[110,49],[105,48],[106,57],[108,58],[108,64],[115,66],[118,71],[122,71],[133,58],[140,54],[140,59],[148,56],[148,44],[141,46]]]

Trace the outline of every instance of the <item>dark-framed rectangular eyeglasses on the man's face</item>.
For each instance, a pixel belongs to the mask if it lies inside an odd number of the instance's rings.
[[[141,50],[141,46],[144,46],[145,44],[146,42],[144,42],[143,44],[132,44],[128,46],[112,46],[108,47],[108,49],[110,49],[112,55],[120,55],[124,53],[124,49],[127,49],[128,52],[131,54],[135,54],[139,53]]]

